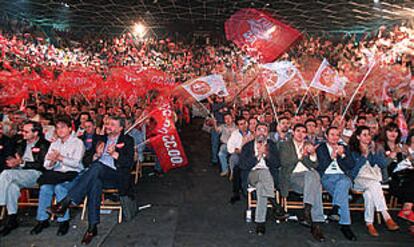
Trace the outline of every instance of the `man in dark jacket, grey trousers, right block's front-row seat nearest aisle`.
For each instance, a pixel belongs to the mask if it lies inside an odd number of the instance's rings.
[[[275,200],[275,184],[277,180],[279,159],[277,147],[274,142],[267,139],[268,126],[259,123],[256,126],[255,139],[246,143],[240,153],[239,167],[242,176],[256,188],[257,206],[255,211],[256,232],[265,233],[265,221],[268,200],[273,206],[274,216],[277,219],[286,219],[288,215]]]

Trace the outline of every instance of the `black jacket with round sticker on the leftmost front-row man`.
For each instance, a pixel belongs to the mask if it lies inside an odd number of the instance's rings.
[[[21,157],[24,155],[26,150],[27,142],[26,140],[20,140],[16,146],[16,153]],[[33,162],[26,162],[23,169],[35,169],[38,171],[44,171],[43,163],[45,162],[45,157],[47,151],[49,150],[50,142],[48,142],[44,137],[40,137],[37,143],[32,148]]]

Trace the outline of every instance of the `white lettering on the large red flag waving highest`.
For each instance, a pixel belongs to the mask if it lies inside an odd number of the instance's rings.
[[[276,26],[266,18],[250,19],[247,20],[249,23],[249,31],[243,33],[243,37],[247,42],[253,44],[257,39],[269,41],[272,39],[273,32],[276,31]]]

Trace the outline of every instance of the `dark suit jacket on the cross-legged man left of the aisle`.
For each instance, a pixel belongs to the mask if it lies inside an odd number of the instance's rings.
[[[108,137],[103,136],[106,143]],[[131,185],[131,168],[134,165],[134,139],[129,135],[121,134],[115,145],[115,151],[119,153],[115,159],[115,167],[118,174],[118,190],[121,196],[127,195]]]

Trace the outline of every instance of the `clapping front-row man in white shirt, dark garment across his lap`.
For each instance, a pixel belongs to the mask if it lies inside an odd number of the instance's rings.
[[[82,141],[71,135],[72,121],[69,116],[59,116],[56,120],[57,140],[53,142],[46,154],[44,168],[46,171],[39,177],[39,206],[37,208],[37,225],[30,234],[39,234],[49,227],[47,208],[52,203],[53,194],[56,200],[62,200],[72,186],[72,181],[83,170],[82,157],[85,152]],[[63,217],[58,217],[58,236],[66,235],[69,230],[69,210]]]

